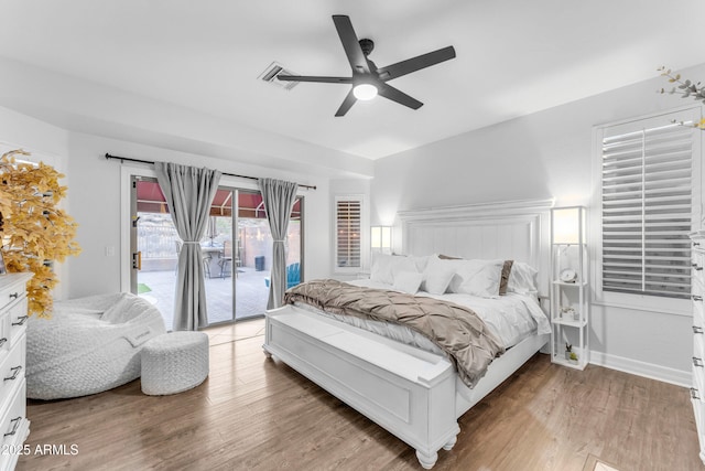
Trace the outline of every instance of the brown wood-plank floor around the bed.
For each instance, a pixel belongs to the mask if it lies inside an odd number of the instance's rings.
[[[30,402],[30,454],[18,470],[420,470],[414,451],[280,362],[254,336],[212,342],[210,375],[152,397],[139,379],[69,400]],[[259,324],[258,324],[259,323]],[[220,328],[210,332],[223,341]],[[237,328],[235,328],[237,329]],[[620,471],[698,470],[685,388],[538,354],[465,414],[434,470],[582,471],[598,457]],[[36,447],[56,448],[36,453]],[[77,453],[70,454],[70,446]]]

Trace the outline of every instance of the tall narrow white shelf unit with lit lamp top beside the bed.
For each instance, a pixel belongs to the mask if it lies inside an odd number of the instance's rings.
[[[552,210],[551,361],[577,370],[584,370],[589,363],[589,258],[585,222],[582,206]],[[573,279],[562,277],[566,270],[574,274]],[[571,352],[566,344],[571,345]]]

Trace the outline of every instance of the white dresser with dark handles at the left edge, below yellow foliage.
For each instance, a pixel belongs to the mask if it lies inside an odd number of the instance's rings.
[[[24,381],[30,278],[32,274],[0,275],[0,471],[14,469],[30,435]]]

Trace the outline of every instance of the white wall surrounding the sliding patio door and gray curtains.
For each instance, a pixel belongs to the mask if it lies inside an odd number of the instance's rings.
[[[301,191],[305,197],[304,269],[307,279],[328,276],[330,211],[327,179],[321,176],[311,180],[310,175],[72,132],[68,143],[68,201],[70,214],[79,224],[77,238],[83,251],[66,263],[68,276],[62,282],[68,286],[68,297],[120,291],[121,276],[129,269],[129,254],[120,256],[122,227],[126,224],[121,215],[121,201],[129,188],[121,183],[120,163],[106,160],[106,152],[317,185],[315,191]],[[151,165],[135,164],[130,169],[134,169],[134,174],[150,174]],[[224,176],[221,182],[256,188],[250,180]],[[116,255],[107,256],[106,247],[115,247]]]

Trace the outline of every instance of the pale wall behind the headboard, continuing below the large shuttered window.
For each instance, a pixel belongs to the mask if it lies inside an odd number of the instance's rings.
[[[705,78],[705,65],[683,76]],[[654,72],[652,81],[380,159],[371,183],[371,224],[398,211],[495,201],[554,197],[556,206],[589,205],[593,127],[686,104],[655,93],[665,85]],[[598,306],[592,315],[593,362],[690,382],[688,315]]]

